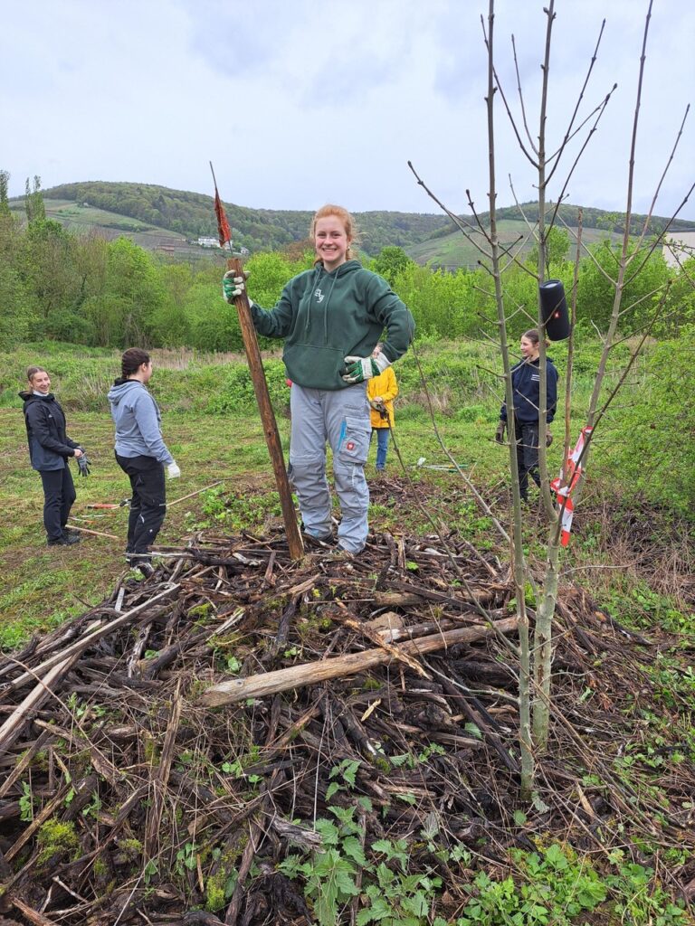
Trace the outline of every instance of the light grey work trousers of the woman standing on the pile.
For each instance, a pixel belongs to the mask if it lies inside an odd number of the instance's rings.
[[[331,533],[331,495],[326,480],[326,442],[333,450],[335,492],[342,519],[338,543],[359,553],[367,540],[369,488],[364,478],[372,426],[367,384],[327,391],[293,383],[290,391],[290,465],[304,529]]]

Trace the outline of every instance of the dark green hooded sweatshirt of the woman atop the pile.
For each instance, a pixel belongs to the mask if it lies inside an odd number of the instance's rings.
[[[348,260],[333,273],[318,263],[288,282],[278,304],[251,304],[259,334],[284,338],[284,366],[297,385],[346,389],[345,357],[370,357],[386,329],[383,352],[392,362],[405,354],[415,331],[410,311],[385,280]]]

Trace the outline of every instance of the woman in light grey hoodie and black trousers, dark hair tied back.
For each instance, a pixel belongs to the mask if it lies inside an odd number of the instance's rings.
[[[149,548],[167,512],[164,468],[170,479],[181,476],[161,436],[161,414],[147,391],[152,361],[144,350],[131,347],[120,358],[121,375],[108,391],[116,425],[116,461],[131,481],[133,497],[128,519],[126,561],[144,575],[153,571]]]

